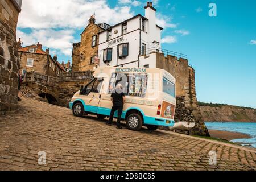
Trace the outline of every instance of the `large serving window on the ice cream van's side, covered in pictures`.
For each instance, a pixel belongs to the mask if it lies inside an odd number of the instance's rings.
[[[110,79],[109,93],[114,92],[117,84],[122,84],[123,93],[129,96],[145,97],[147,75],[133,73],[113,73]]]

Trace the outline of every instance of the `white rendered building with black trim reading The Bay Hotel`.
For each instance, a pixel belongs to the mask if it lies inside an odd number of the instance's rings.
[[[161,30],[156,24],[156,9],[147,2],[145,16],[133,18],[99,33],[98,57],[101,67],[156,67],[161,51]]]

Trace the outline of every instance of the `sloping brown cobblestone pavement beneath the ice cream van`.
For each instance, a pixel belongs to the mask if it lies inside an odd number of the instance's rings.
[[[253,150],[166,131],[117,130],[93,117],[23,98],[0,117],[1,170],[255,170]],[[217,151],[217,165],[208,152]],[[46,152],[46,165],[38,152]]]

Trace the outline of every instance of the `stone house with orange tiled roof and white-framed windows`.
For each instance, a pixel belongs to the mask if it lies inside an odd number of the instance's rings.
[[[18,45],[22,45],[20,39]],[[49,49],[44,51],[42,44],[34,44],[26,47],[20,46],[18,49],[20,69],[22,69],[22,77],[26,72],[35,71],[49,76],[60,76],[61,72],[66,72],[63,65],[57,61],[57,55],[52,58],[49,55]]]

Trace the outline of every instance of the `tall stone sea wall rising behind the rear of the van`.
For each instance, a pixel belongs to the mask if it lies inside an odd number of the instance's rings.
[[[165,69],[176,78],[176,121],[196,123],[192,134],[209,135],[197,105],[195,69],[189,66],[188,60],[163,53],[156,53],[156,67]]]

